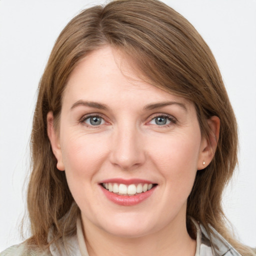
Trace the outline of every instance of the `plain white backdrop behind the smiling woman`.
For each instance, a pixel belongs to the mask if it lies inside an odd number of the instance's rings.
[[[0,0],[0,251],[22,239],[36,89],[53,43],[81,9],[104,1]],[[164,0],[211,48],[239,126],[239,167],[223,207],[238,239],[256,247],[256,1]]]

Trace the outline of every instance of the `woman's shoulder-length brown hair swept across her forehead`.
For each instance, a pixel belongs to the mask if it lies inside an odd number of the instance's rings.
[[[211,163],[197,171],[187,200],[187,215],[206,228],[209,223],[240,253],[251,253],[228,233],[221,207],[223,188],[237,163],[237,126],[219,69],[195,28],[158,0],[115,0],[85,9],[57,38],[39,83],[33,118],[32,173],[27,195],[32,233],[29,242],[39,247],[49,245],[49,229],[54,237],[50,242],[76,231],[79,209],[65,173],[56,168],[46,115],[53,111],[57,126],[70,72],[78,60],[106,44],[129,56],[151,84],[191,100],[203,136],[210,139],[207,118],[219,117],[217,148]]]

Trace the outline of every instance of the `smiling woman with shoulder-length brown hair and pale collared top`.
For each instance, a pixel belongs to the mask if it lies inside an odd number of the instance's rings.
[[[31,145],[32,236],[2,255],[253,255],[224,226],[237,131],[219,70],[159,1],[112,1],[67,24]]]

